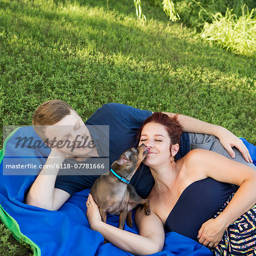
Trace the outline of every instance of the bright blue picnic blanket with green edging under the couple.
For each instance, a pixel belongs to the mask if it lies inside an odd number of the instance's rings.
[[[20,138],[26,137],[27,141],[20,142]],[[27,189],[40,172],[39,165],[46,162],[50,152],[40,141],[31,126],[21,127],[6,139],[0,154],[0,218],[14,237],[29,243],[34,255],[132,255],[112,243],[104,245],[102,235],[90,229],[85,205],[89,189],[75,193],[57,211],[23,203]],[[255,160],[256,147],[247,146],[253,150],[251,155]],[[118,216],[110,215],[107,223],[118,226],[118,220]],[[138,233],[135,224],[133,228],[125,224],[125,230]],[[207,256],[212,253],[200,243],[170,232],[166,234],[163,251],[156,255]]]

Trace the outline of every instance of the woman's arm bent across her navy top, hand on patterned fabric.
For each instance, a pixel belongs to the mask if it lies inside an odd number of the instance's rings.
[[[193,171],[198,172],[202,179],[212,177],[240,186],[225,210],[214,220],[205,222],[199,230],[199,242],[205,246],[208,243],[217,246],[224,230],[256,204],[256,171],[208,150],[192,150],[188,157],[187,163],[193,165]]]

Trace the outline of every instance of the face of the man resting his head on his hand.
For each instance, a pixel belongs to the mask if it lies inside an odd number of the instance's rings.
[[[82,118],[73,110],[54,125],[46,127],[48,146],[55,147],[64,154],[72,156],[90,156],[93,144],[89,130]]]

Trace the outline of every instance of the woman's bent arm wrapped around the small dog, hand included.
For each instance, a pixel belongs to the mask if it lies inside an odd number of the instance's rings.
[[[139,229],[139,235],[126,230],[115,228],[112,225],[101,221],[100,212],[92,195],[89,195],[86,216],[88,217],[90,227],[104,236],[105,240],[113,243],[124,251],[132,254],[147,255],[157,253],[163,249],[164,228],[159,217],[151,211],[146,216],[144,210],[137,209],[135,221]]]

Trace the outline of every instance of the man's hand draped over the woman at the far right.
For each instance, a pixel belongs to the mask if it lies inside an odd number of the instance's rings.
[[[234,135],[224,127],[220,127],[220,132],[218,133],[217,137],[220,139],[222,146],[225,147],[226,151],[228,151],[229,155],[232,158],[236,157],[236,154],[232,147],[236,147],[242,153],[243,158],[246,160],[247,163],[253,163],[247,147],[245,146],[245,144],[243,144],[241,139],[236,137],[236,135]]]

